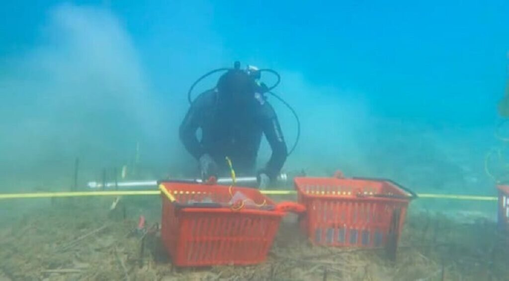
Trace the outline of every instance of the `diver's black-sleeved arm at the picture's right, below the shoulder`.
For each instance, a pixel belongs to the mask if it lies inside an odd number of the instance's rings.
[[[265,173],[271,180],[275,180],[287,158],[287,146],[275,114],[265,118],[263,131],[272,149],[272,155],[261,173]]]

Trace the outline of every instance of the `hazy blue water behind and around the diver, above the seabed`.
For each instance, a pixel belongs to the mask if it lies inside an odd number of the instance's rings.
[[[283,172],[494,196],[495,180],[509,180],[494,135],[509,135],[509,123],[497,126],[509,91],[507,15],[505,0],[3,3],[0,193],[69,190],[76,159],[80,188],[123,169],[126,180],[195,175],[178,138],[187,90],[240,61],[278,71],[275,92],[299,115]],[[291,147],[295,119],[269,102]],[[264,140],[260,166],[269,156]],[[39,204],[16,202],[0,221]],[[415,206],[496,216],[492,201]]]

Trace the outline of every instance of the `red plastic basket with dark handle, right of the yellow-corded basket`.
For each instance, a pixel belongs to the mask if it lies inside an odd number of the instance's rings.
[[[307,209],[302,231],[315,245],[380,247],[398,240],[416,194],[391,181],[362,178],[295,178]],[[391,237],[392,237],[391,236]]]

